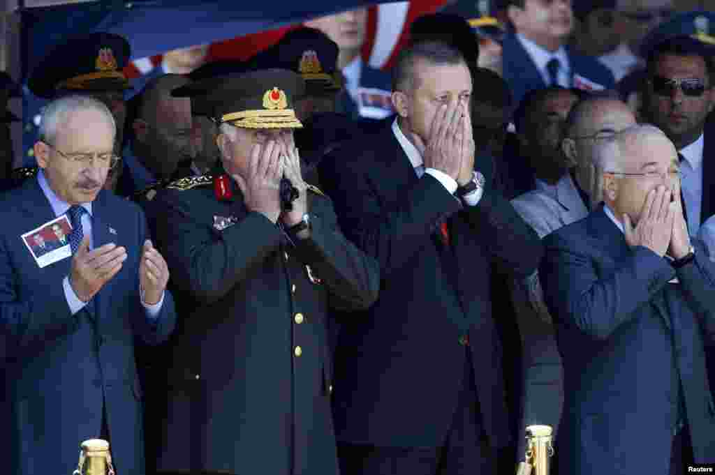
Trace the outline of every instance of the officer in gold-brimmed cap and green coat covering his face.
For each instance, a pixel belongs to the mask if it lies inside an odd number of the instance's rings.
[[[184,298],[159,471],[338,473],[325,328],[332,309],[373,304],[379,271],[302,179],[292,105],[303,87],[281,69],[209,80],[221,169],[151,201]],[[282,177],[297,191],[290,206]]]

